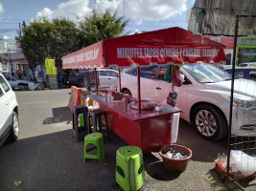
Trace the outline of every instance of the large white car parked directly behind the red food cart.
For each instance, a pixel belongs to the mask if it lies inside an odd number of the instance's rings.
[[[172,83],[163,80],[168,66],[141,68],[141,96],[163,102],[172,90]],[[122,92],[137,96],[137,71],[131,67],[121,74]],[[180,117],[191,122],[206,139],[227,136],[231,76],[209,64],[184,65],[184,80],[177,93],[176,107]],[[234,87],[232,132],[238,136],[256,134],[256,82],[236,79]]]

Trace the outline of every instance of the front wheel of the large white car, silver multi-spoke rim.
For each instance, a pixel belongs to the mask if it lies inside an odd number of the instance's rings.
[[[202,138],[218,140],[226,137],[227,122],[219,109],[200,105],[193,114],[192,123]]]

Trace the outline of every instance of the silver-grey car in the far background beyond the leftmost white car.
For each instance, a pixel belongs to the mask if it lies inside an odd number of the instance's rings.
[[[38,83],[22,80],[12,75],[6,75],[5,77],[10,83],[12,90],[36,90],[39,86]]]

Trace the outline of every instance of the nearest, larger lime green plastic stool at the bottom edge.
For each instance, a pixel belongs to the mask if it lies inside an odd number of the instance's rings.
[[[137,146],[120,147],[116,152],[116,182],[124,190],[138,190],[144,180],[142,150]]]

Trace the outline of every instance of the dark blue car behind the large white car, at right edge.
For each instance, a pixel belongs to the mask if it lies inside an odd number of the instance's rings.
[[[232,68],[226,68],[223,70],[228,74],[232,74]],[[245,78],[256,81],[256,67],[236,67],[235,68],[235,78]]]

